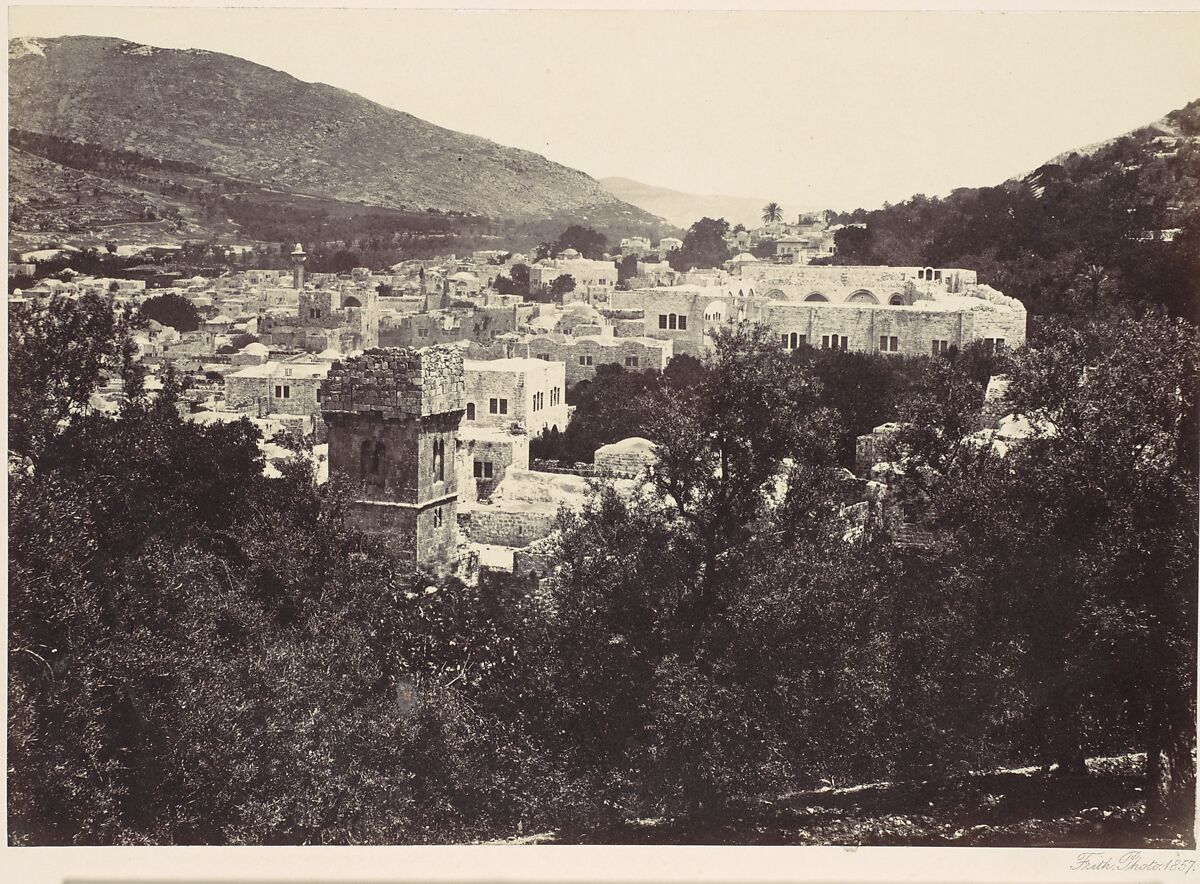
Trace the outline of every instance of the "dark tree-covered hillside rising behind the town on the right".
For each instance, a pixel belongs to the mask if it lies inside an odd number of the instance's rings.
[[[1200,100],[994,187],[844,212],[839,264],[964,266],[1033,313],[1200,309]]]

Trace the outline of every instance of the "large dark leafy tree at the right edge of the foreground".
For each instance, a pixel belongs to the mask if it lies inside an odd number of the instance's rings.
[[[986,631],[1016,651],[1045,763],[1084,774],[1088,748],[1134,741],[1152,816],[1178,824],[1195,782],[1194,330],[1145,317],[1044,333],[1014,354],[1008,392],[1042,429],[1003,458],[943,459],[936,510],[990,600]]]

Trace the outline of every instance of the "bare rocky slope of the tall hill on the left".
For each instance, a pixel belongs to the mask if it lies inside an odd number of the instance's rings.
[[[60,37],[11,41],[8,58],[10,125],[25,132],[343,203],[658,221],[536,154],[230,55]]]

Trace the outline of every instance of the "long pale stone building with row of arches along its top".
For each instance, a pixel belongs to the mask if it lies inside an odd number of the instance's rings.
[[[715,329],[764,323],[788,349],[811,347],[936,354],[973,341],[1019,347],[1020,301],[980,285],[970,270],[748,264],[721,285],[618,291],[613,307],[640,309],[647,337],[701,355]]]

